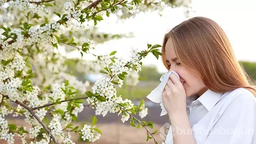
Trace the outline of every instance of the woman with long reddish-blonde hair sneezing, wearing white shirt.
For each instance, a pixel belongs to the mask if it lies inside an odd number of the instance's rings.
[[[164,36],[171,74],[162,99],[171,129],[166,144],[256,144],[256,87],[223,29],[194,17]]]

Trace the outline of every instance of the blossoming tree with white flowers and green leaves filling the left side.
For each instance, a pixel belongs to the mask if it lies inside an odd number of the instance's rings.
[[[133,116],[139,112],[141,118],[148,114],[144,102],[135,106],[132,101],[123,100],[117,96],[115,86],[122,87],[124,81],[138,79],[129,76],[141,71],[141,60],[149,53],[157,59],[162,55],[159,44],[147,44],[143,51],[132,48],[130,60],[110,54],[95,55],[91,39],[80,40],[74,36],[84,29],[95,27],[103,20],[103,15],[116,14],[117,11],[136,13],[146,5],[151,7],[153,1],[141,0],[73,0],[72,2],[54,0],[4,0],[0,2],[1,11],[5,15],[0,19],[0,138],[14,143],[14,136],[21,138],[23,144],[57,143],[56,137],[63,137],[63,143],[74,144],[70,132],[81,136],[83,140],[95,142],[102,132],[96,126],[94,116],[92,124],[72,127],[73,121],[78,121],[78,114],[84,106],[95,109],[95,115],[105,117],[108,112],[122,115],[121,121],[130,119],[142,125],[147,131],[147,140],[153,138],[147,126],[153,128],[153,122],[139,121]],[[143,4],[146,2],[146,4]],[[63,9],[58,9],[63,5]],[[138,9],[137,9],[138,8]],[[105,19],[105,18],[104,18]],[[71,36],[70,36],[71,35]],[[76,69],[83,74],[102,73],[92,87],[87,91],[89,82],[80,80],[68,73],[65,55],[59,51],[61,44],[76,48],[81,57],[89,53],[95,56],[95,61],[79,59]],[[82,100],[87,101],[84,105]],[[11,105],[12,102],[18,105]],[[22,115],[24,121],[31,125],[18,128],[8,123],[5,116]],[[50,118],[46,115],[49,115]],[[49,122],[43,121],[49,119]],[[39,141],[39,133],[44,129],[43,138]],[[28,134],[28,135],[27,135]],[[47,135],[48,134],[48,135]],[[31,141],[27,142],[26,136]]]

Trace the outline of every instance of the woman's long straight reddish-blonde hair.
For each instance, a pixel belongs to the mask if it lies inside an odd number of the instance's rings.
[[[215,92],[245,88],[256,96],[256,87],[235,57],[229,39],[213,20],[194,17],[175,26],[164,35],[162,61],[166,61],[168,39],[174,43],[175,54],[182,64],[201,78]]]

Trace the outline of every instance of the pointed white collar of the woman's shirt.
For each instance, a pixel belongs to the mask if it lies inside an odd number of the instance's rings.
[[[198,102],[200,102],[208,111],[210,111],[214,107],[214,105],[220,100],[220,97],[223,94],[224,93],[222,92],[214,92],[208,89],[197,99],[196,96],[187,97],[187,103],[197,104]]]

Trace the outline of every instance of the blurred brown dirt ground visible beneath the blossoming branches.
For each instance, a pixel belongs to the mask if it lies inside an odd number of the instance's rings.
[[[22,121],[16,121],[17,126],[28,125]],[[79,123],[74,123],[74,125],[80,126]],[[144,128],[137,129],[133,126],[122,124],[122,123],[108,123],[108,124],[99,124],[102,135],[99,140],[94,142],[94,144],[154,144],[153,139],[147,139],[147,133]],[[153,135],[157,142],[161,144],[163,139],[160,137],[159,129],[162,125],[155,125],[154,129],[148,128],[151,132],[157,129],[157,133]],[[83,142],[78,140],[79,138],[72,133],[72,140],[76,144],[85,144],[88,142]],[[29,142],[29,140],[28,140]],[[7,144],[5,140],[0,140],[0,144]],[[21,144],[21,140],[18,136],[15,136],[14,144]]]

